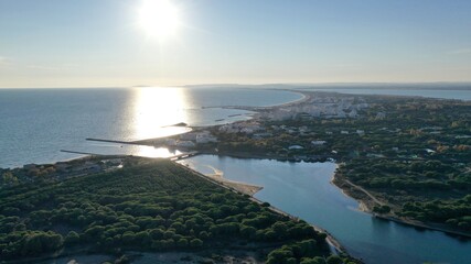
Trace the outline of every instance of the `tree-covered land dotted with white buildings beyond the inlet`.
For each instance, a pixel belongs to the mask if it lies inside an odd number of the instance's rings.
[[[471,102],[349,97],[368,108],[355,118],[300,113],[282,121],[259,120],[264,129],[258,135],[214,128],[220,142],[211,147],[293,162],[331,157],[342,164],[339,180],[347,179],[387,205],[372,206],[375,212],[471,232]]]

